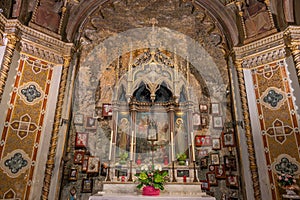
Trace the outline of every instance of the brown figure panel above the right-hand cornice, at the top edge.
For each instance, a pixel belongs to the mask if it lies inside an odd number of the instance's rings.
[[[244,11],[247,37],[251,38],[271,30],[272,24],[267,7],[264,3],[252,0]]]

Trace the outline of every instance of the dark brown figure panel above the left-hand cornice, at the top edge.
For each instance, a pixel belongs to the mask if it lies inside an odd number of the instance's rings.
[[[36,11],[35,23],[57,32],[62,4],[63,1],[41,0]]]

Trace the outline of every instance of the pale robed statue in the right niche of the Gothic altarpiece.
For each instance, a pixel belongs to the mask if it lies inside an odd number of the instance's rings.
[[[187,149],[187,132],[182,118],[176,120],[175,125],[175,151],[176,154],[185,153]]]

